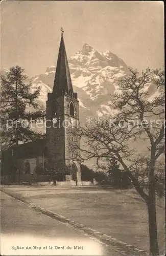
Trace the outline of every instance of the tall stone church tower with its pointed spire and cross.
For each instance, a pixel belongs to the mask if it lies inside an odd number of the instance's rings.
[[[79,151],[72,149],[70,142],[79,140],[70,133],[71,127],[79,125],[79,101],[73,91],[70,78],[63,30],[59,47],[53,92],[48,93],[46,101],[46,141],[48,161],[52,168],[67,165],[70,177],[81,182]]]

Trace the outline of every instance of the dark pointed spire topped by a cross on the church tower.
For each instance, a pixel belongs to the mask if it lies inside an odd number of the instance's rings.
[[[63,40],[63,29],[61,28],[61,41],[59,47],[59,54],[57,60],[57,68],[55,73],[55,80],[54,80],[54,87],[53,87],[53,94],[68,94],[73,96],[73,86],[72,80],[70,77],[68,61],[66,50],[64,46]]]

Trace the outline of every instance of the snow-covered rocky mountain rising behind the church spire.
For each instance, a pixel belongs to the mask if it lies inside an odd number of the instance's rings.
[[[99,52],[88,44],[68,59],[74,91],[80,102],[80,118],[103,116],[111,112],[109,100],[118,92],[117,81],[128,73],[125,62],[110,51]],[[55,66],[32,77],[32,89],[41,87],[40,102],[45,105],[47,93],[52,92]]]

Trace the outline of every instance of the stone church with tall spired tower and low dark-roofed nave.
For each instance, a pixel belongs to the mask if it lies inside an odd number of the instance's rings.
[[[53,91],[48,93],[46,101],[46,138],[12,146],[2,155],[2,167],[11,170],[15,166],[21,180],[34,175],[39,165],[54,170],[67,166],[69,173],[65,175],[66,179],[81,183],[79,151],[71,147],[73,140],[80,142],[70,134],[70,127],[79,125],[79,101],[73,91],[61,31]]]

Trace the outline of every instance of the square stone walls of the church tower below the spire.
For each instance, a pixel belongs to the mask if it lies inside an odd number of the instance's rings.
[[[74,140],[77,141],[77,143],[79,144],[79,139],[76,138],[76,136],[71,136],[70,133],[70,129],[72,128],[72,126],[75,126],[76,124],[78,125],[79,123],[78,100],[66,95],[57,98],[53,97],[54,96],[52,94],[49,94],[49,100],[46,102],[46,118],[48,125],[48,127],[46,127],[46,136],[50,167],[57,166],[57,163],[65,163],[65,159],[76,159],[76,151],[72,150],[70,143],[72,142],[72,140]],[[70,115],[69,112],[70,102],[73,102],[74,104],[74,117]],[[58,106],[58,114],[56,116],[58,121],[56,124],[54,124],[53,119],[54,104]],[[71,118],[74,120],[74,123],[71,122]],[[80,168],[78,166],[78,170],[79,169]],[[80,177],[81,176],[78,175],[79,179]]]

